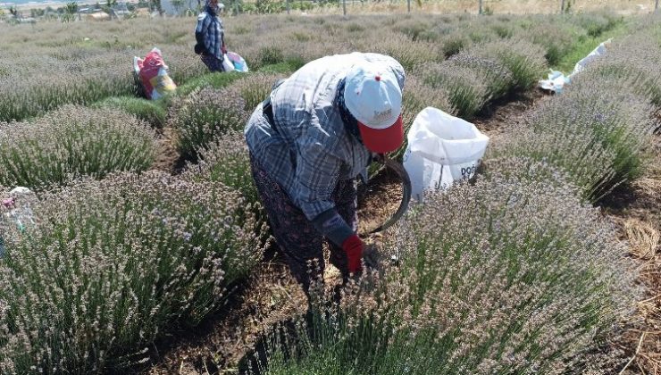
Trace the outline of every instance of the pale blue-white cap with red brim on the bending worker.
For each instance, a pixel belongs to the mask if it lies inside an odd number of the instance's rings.
[[[368,150],[385,154],[402,145],[402,90],[387,66],[369,62],[356,64],[347,74],[344,100],[358,121],[363,144]]]

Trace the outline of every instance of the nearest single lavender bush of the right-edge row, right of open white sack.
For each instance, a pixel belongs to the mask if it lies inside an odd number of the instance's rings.
[[[548,162],[568,173],[590,202],[637,178],[648,160],[655,126],[649,120],[651,107],[624,87],[599,91],[604,84],[583,79],[563,96],[540,105],[527,123],[509,129],[491,146],[486,159]]]

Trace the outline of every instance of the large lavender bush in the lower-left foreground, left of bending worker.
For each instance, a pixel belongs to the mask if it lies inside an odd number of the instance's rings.
[[[123,372],[195,325],[261,259],[249,204],[160,172],[84,179],[41,196],[0,262],[0,371]]]

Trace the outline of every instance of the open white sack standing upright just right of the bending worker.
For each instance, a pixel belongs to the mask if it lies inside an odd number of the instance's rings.
[[[407,139],[404,168],[418,202],[424,190],[445,189],[456,179],[473,177],[489,144],[489,137],[472,123],[433,107],[418,113]]]

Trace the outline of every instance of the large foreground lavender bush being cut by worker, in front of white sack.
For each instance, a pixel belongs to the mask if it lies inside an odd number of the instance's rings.
[[[399,265],[314,303],[295,337],[273,334],[266,371],[576,371],[635,295],[612,231],[572,187],[495,175],[451,187],[389,235]]]

